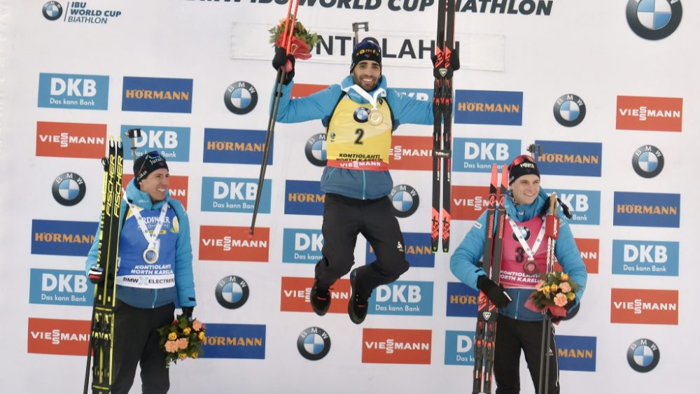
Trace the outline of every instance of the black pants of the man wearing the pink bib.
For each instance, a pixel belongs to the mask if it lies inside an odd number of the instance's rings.
[[[551,323],[550,323],[551,324]],[[550,337],[549,390],[547,394],[559,394],[559,363],[554,342],[554,327]],[[493,359],[493,376],[496,378],[496,394],[520,393],[520,351],[537,391],[540,381],[540,352],[542,351],[542,321],[521,321],[498,315],[496,350]],[[545,393],[538,393],[545,394]]]

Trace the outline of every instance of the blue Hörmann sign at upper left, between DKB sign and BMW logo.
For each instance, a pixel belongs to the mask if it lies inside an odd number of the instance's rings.
[[[192,113],[193,81],[125,76],[122,111]]]

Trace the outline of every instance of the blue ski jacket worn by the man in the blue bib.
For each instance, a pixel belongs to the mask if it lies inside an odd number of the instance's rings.
[[[190,219],[187,212],[182,206],[182,203],[170,197],[170,192],[166,192],[165,200],[153,204],[151,197],[146,192],[142,192],[137,187],[134,181],[127,185],[126,197],[132,204],[140,206],[146,210],[158,210],[163,204],[169,204],[175,212],[175,216],[179,221],[179,234],[177,235],[175,245],[175,261],[173,263],[175,273],[175,286],[171,288],[133,288],[127,286],[117,286],[117,298],[126,304],[137,308],[157,308],[162,305],[174,302],[176,299],[180,307],[195,307],[195,282],[193,279],[192,269],[192,244],[190,241]],[[122,201],[119,223],[120,229],[124,224],[124,218],[129,205]],[[133,230],[138,234],[120,233],[120,238],[123,237],[144,237],[138,226]],[[121,244],[121,243],[120,243]],[[90,252],[87,253],[87,261],[85,262],[85,272],[90,270],[90,267],[97,265],[97,251],[99,246],[99,227],[97,228],[97,237],[95,237]]]

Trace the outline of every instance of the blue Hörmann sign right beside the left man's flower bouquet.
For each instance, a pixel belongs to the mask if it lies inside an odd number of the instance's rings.
[[[265,325],[207,323],[202,358],[265,359]],[[85,353],[85,349],[83,349]]]

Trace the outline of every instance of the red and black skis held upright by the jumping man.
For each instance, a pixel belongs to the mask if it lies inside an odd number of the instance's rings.
[[[449,251],[452,171],[452,50],[454,49],[454,0],[438,0],[437,41],[433,90],[433,214],[430,228],[433,253],[442,227],[442,251]],[[442,186],[442,209],[440,188]],[[440,216],[442,214],[442,223]]]

